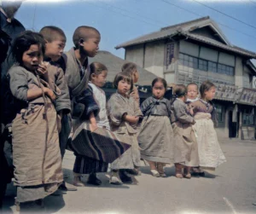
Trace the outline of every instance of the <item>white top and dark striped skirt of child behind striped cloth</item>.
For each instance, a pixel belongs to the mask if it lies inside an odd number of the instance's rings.
[[[110,130],[105,92],[98,88],[95,84],[90,83],[89,85],[90,89],[92,90],[93,97],[98,107],[100,108],[99,113],[96,115],[96,124],[98,127]],[[77,155],[73,171],[79,174],[90,174],[91,172],[107,172],[108,163]]]

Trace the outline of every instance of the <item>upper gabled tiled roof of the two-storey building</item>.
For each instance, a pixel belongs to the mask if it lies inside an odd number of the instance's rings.
[[[212,38],[207,38],[195,33],[191,33],[191,31],[195,30],[196,28],[207,26],[207,25],[210,25],[213,28],[215,28],[215,30],[218,32],[220,39],[223,40],[223,43],[218,42],[217,40],[214,40]],[[213,20],[211,20],[209,16],[203,17],[198,20],[183,22],[181,24],[177,24],[174,26],[167,26],[167,27],[161,28],[160,31],[158,32],[152,32],[142,37],[132,39],[131,41],[128,41],[126,43],[121,43],[115,48],[116,49],[126,48],[126,47],[140,44],[140,43],[148,43],[148,42],[161,40],[164,38],[172,38],[177,34],[188,36],[189,38],[193,40],[197,40],[201,43],[207,43],[212,46],[218,47],[220,49],[226,49],[231,52],[235,52],[236,54],[239,54],[239,55],[246,55],[247,57],[256,58],[256,53],[253,53],[252,51],[248,51],[247,49],[241,49],[239,47],[231,45],[228,39],[225,38],[224,33],[221,32],[218,25]]]

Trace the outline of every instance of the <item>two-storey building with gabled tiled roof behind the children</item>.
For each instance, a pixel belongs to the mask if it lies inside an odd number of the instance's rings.
[[[137,63],[168,83],[217,85],[219,133],[255,139],[256,54],[231,45],[208,16],[166,26],[126,43],[125,60]]]

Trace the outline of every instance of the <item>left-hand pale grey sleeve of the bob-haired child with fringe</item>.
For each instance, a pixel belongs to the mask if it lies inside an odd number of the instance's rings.
[[[122,123],[124,114],[127,113],[125,103],[119,95],[112,95],[108,101],[108,117],[114,125]]]

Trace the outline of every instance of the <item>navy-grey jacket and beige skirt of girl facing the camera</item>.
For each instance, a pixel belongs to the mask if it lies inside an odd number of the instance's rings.
[[[171,103],[153,96],[141,106],[143,123],[138,143],[143,159],[170,164],[173,159],[173,131],[171,125]]]

